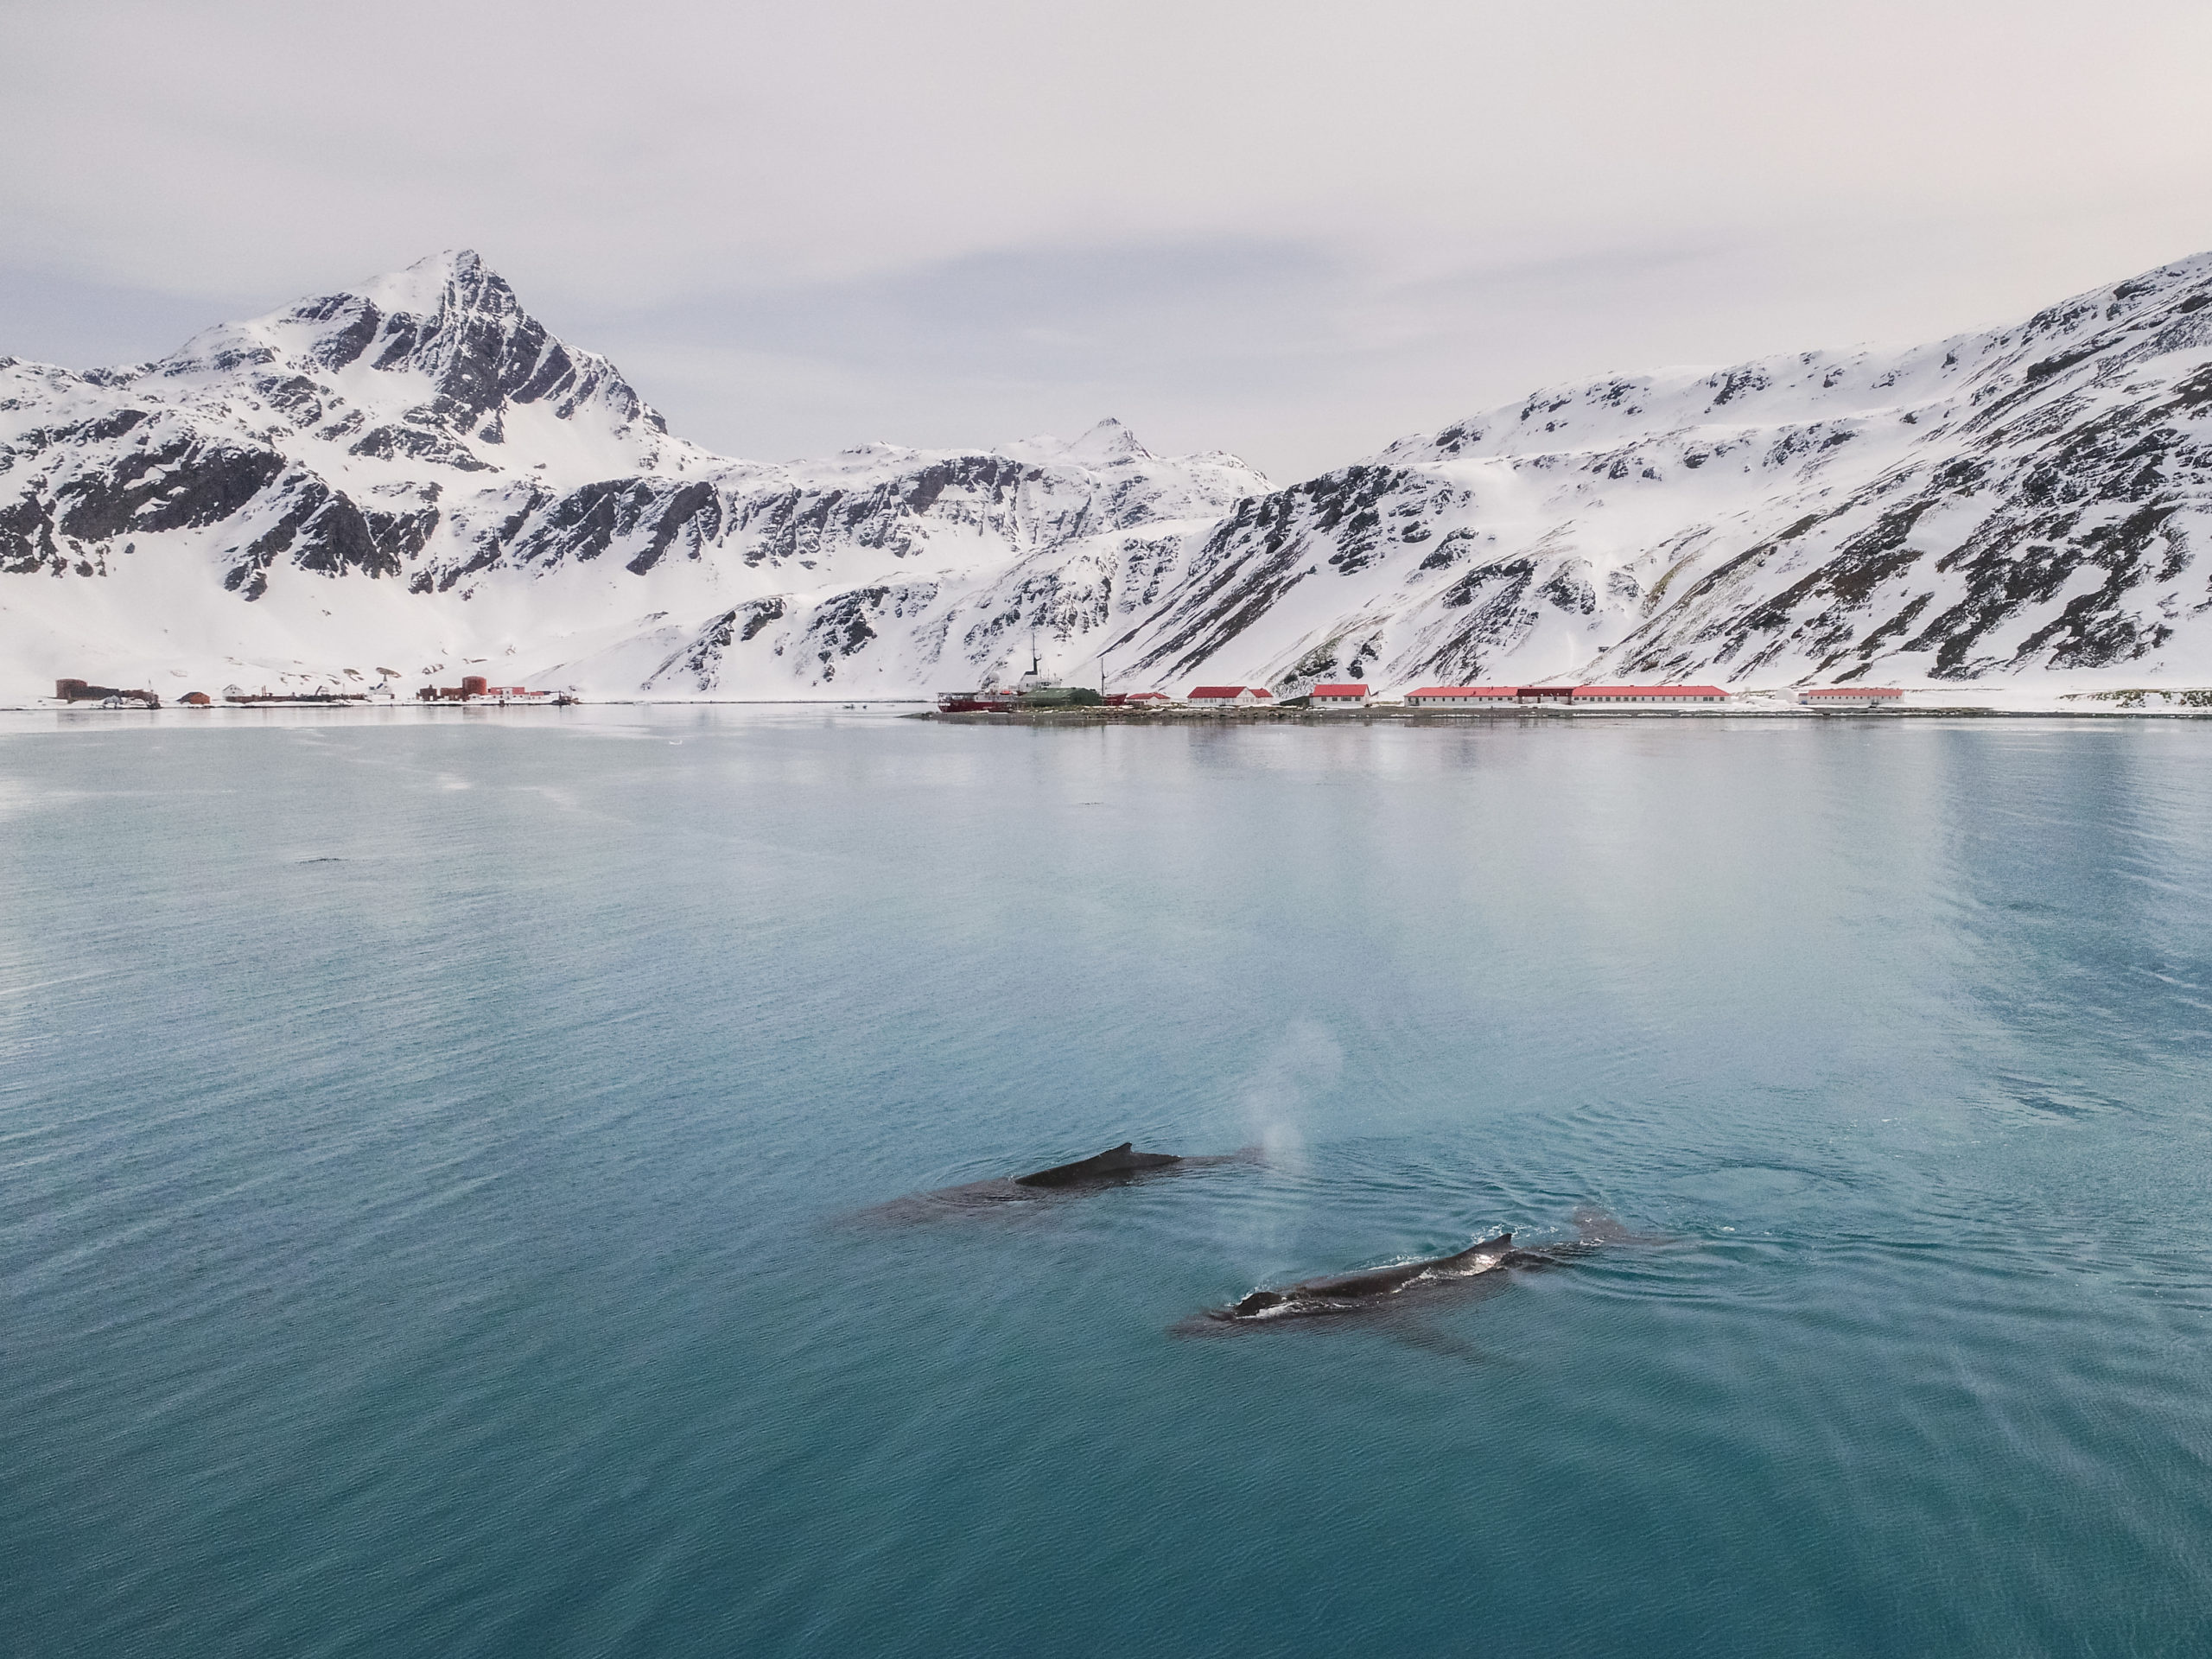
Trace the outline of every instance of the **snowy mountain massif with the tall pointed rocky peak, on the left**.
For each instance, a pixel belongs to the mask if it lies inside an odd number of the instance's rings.
[[[754,465],[442,254],[128,369],[0,361],[0,697],[58,675],[911,692],[1157,588],[1267,480],[1102,422]]]

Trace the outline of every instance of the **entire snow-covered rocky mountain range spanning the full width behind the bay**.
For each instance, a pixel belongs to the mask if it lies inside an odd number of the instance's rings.
[[[460,252],[159,363],[0,358],[0,699],[889,697],[1031,637],[1170,690],[2212,684],[2208,438],[2212,254],[1909,352],[1542,392],[1274,491],[1110,420],[723,460]]]

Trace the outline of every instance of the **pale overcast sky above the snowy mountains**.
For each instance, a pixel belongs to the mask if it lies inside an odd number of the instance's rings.
[[[0,354],[476,248],[686,436],[1281,480],[2212,248],[2205,0],[0,0]]]

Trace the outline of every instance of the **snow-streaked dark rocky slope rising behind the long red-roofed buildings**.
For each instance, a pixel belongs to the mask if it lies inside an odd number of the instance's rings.
[[[2212,254],[1911,352],[1540,392],[1243,502],[1133,666],[2212,679]]]

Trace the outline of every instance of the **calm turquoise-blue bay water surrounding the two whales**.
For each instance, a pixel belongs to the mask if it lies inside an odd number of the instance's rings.
[[[9,1652],[2208,1646],[2212,726],[4,719]]]

